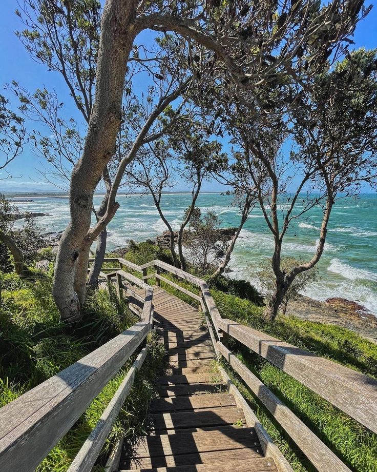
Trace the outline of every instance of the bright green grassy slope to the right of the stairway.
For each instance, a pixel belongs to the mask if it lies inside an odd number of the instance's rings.
[[[142,260],[140,264],[145,262],[148,261]],[[192,284],[171,274],[164,273],[163,276],[188,290],[199,293]],[[161,286],[187,303],[198,305],[198,302],[170,285],[161,282]],[[295,317],[280,316],[274,323],[265,322],[261,317],[263,307],[258,293],[249,288],[244,281],[242,284],[239,281],[236,283],[229,280],[220,281],[211,288],[211,293],[223,318],[253,327],[368,376],[377,377],[377,346],[356,333],[346,328],[304,321]],[[351,470],[358,472],[377,470],[377,435],[234,340],[231,341],[231,349]],[[314,471],[315,468],[296,444],[236,373],[226,365],[224,367],[295,472]]]

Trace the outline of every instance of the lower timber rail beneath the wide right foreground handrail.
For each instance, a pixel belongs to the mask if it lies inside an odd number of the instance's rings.
[[[319,472],[350,472],[350,469],[229,349],[221,343],[218,343],[218,349]]]

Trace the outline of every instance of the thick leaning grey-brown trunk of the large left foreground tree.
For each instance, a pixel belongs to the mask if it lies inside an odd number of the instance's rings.
[[[135,0],[110,0],[103,9],[93,112],[82,158],[72,172],[71,220],[56,258],[53,296],[62,319],[80,317],[80,301],[74,289],[77,263],[90,228],[94,190],[115,151],[127,61],[138,32],[134,27],[136,8]]]

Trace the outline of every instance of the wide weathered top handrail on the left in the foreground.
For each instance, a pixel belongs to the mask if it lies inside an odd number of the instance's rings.
[[[0,470],[35,470],[146,337],[136,323],[0,409]]]

